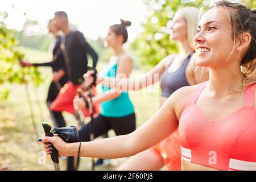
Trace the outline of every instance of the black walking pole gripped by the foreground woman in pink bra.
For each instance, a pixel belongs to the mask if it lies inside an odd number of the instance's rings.
[[[42,125],[44,128],[44,133],[46,134],[46,137],[53,137],[54,135],[52,133],[52,126],[48,122],[43,122]],[[56,148],[53,146],[52,143],[49,143],[49,144],[51,144],[53,148],[51,158],[54,164],[55,171],[60,171],[58,151],[56,150]]]

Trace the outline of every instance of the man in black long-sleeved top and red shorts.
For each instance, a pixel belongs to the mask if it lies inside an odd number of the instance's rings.
[[[61,51],[67,66],[68,83],[64,85],[56,100],[51,105],[53,111],[68,111],[75,114],[73,98],[77,88],[82,83],[82,76],[87,72],[87,54],[92,57],[93,68],[96,68],[98,56],[92,47],[86,42],[84,35],[79,31],[72,31],[68,25],[68,15],[64,11],[55,13],[55,26],[64,34],[61,42]]]

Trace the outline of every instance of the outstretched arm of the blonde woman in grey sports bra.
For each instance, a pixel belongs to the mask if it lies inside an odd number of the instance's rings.
[[[152,68],[149,72],[146,73],[146,75],[140,78],[113,78],[98,76],[96,82],[97,84],[101,84],[110,88],[122,88],[122,91],[141,90],[158,82],[159,78],[162,76],[164,70],[166,69],[166,65],[170,63],[174,57],[174,55],[164,57],[164,59],[160,61],[154,68]],[[85,73],[84,78],[85,81],[88,82],[86,85],[90,85],[92,83],[92,74],[92,71]]]

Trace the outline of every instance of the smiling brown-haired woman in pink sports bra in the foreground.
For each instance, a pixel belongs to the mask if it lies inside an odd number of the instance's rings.
[[[196,64],[209,81],[174,92],[143,126],[128,135],[82,142],[80,156],[122,158],[146,150],[179,127],[183,170],[256,170],[256,11],[216,2],[194,38]],[[160,132],[159,132],[160,131]],[[42,137],[63,156],[79,143]],[[43,144],[47,154],[47,144]]]

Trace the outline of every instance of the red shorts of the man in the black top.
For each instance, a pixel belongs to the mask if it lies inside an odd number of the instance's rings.
[[[68,113],[75,114],[75,108],[73,106],[73,99],[77,95],[77,89],[79,84],[73,85],[71,81],[68,81],[67,84],[61,88],[58,96],[52,102],[50,109],[52,111],[67,111]],[[95,87],[92,88],[92,94],[96,94]],[[93,105],[93,113],[99,113],[99,106]],[[89,116],[89,109],[84,111],[85,116]]]

